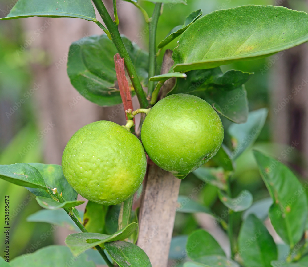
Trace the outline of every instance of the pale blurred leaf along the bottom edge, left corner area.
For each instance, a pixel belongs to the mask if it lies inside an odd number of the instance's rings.
[[[10,261],[10,265],[11,267],[95,267],[93,261],[87,261],[86,254],[76,258],[68,247],[59,245],[47,246],[34,253],[16,257]]]

